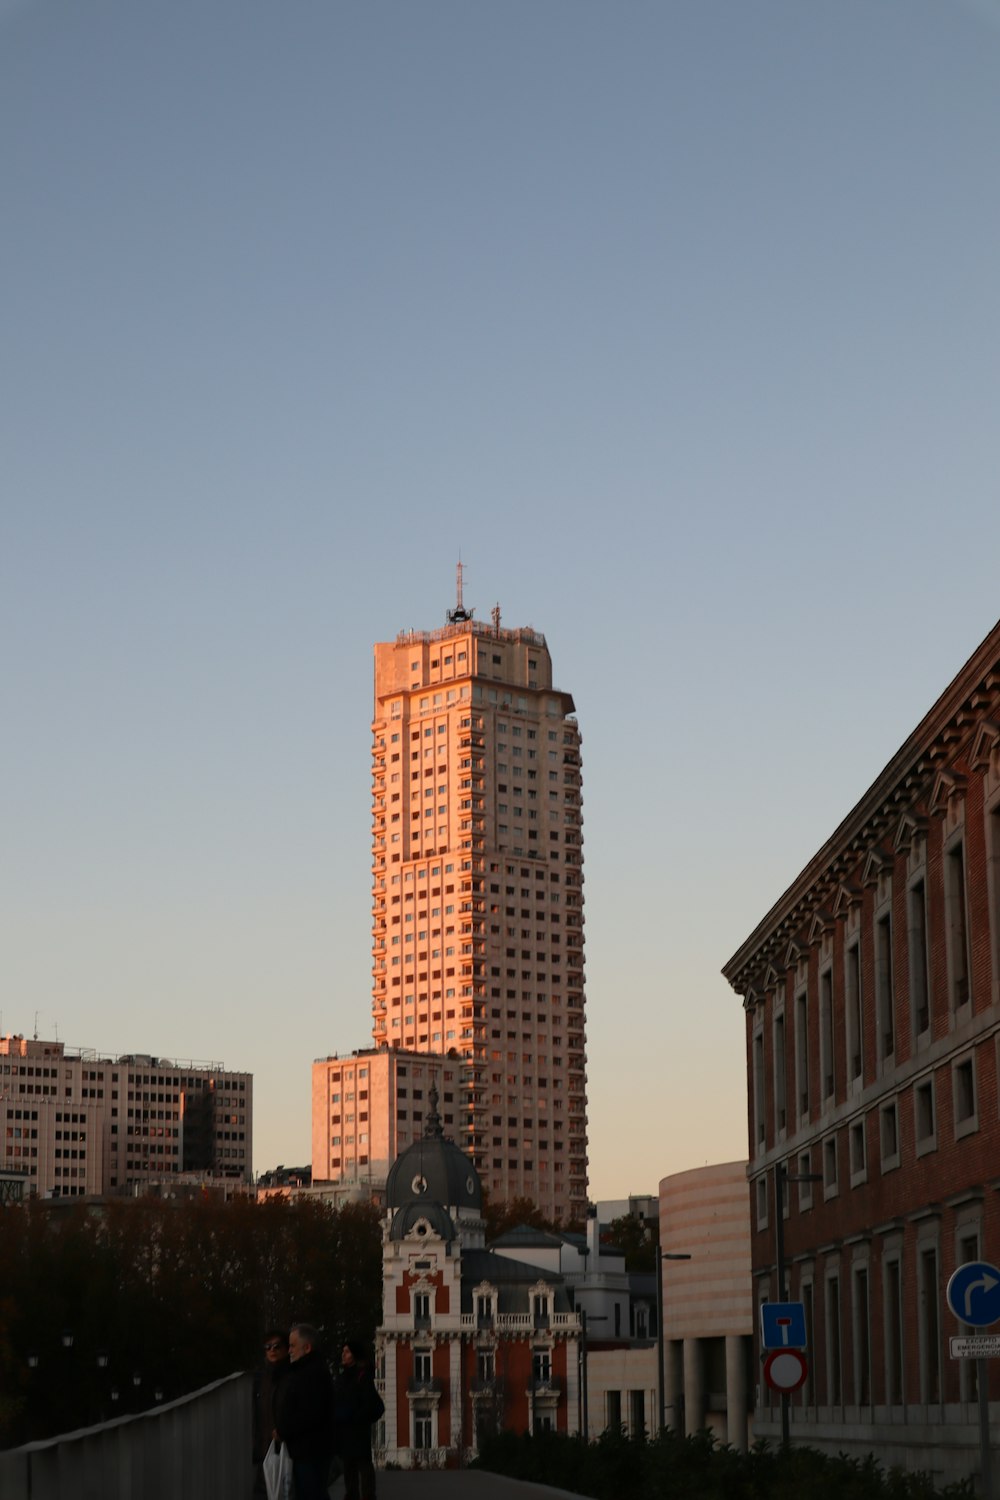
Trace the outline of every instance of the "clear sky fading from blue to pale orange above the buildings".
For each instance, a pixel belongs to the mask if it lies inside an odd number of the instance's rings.
[[[742,1156],[720,966],[1000,614],[991,0],[0,0],[3,1030],[370,1041],[372,642],[583,732],[591,1194]]]

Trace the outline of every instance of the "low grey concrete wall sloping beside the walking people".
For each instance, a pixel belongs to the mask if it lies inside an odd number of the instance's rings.
[[[3,1500],[246,1500],[250,1485],[250,1376],[0,1452]]]

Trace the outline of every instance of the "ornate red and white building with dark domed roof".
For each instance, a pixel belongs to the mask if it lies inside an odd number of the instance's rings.
[[[385,1185],[378,1446],[403,1467],[465,1462],[487,1431],[580,1426],[582,1320],[565,1281],[486,1248],[480,1174],[445,1140],[436,1090],[429,1104]]]

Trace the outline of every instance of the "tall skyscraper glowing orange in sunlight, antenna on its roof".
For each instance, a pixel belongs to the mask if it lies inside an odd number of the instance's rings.
[[[580,730],[535,630],[375,646],[372,1017],[459,1064],[454,1138],[495,1200],[586,1210]]]

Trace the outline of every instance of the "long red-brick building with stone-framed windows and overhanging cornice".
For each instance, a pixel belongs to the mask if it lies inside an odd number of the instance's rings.
[[[945,1287],[1000,1258],[1000,626],[729,960],[747,1022],[754,1302],[805,1304],[792,1434],[957,1478],[976,1366]],[[1000,1380],[993,1392],[1000,1396]],[[778,1432],[759,1389],[757,1437]]]

